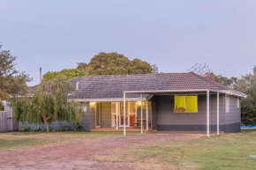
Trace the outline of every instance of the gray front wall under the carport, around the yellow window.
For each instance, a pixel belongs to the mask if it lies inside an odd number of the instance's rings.
[[[169,130],[206,130],[207,95],[198,95],[198,113],[174,113],[174,95],[156,96],[157,129]],[[210,94],[210,128],[216,129],[217,95]],[[220,95],[220,130],[224,130],[224,96]]]

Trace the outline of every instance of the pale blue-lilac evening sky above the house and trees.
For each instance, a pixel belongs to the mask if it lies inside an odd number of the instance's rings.
[[[0,43],[18,70],[71,69],[117,52],[185,72],[207,63],[226,77],[256,65],[255,0],[0,0]]]

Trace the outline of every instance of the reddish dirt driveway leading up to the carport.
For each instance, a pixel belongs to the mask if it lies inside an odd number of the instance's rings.
[[[132,163],[124,165],[120,162],[95,161],[92,156],[139,144],[183,141],[202,136],[186,133],[139,134],[0,152],[0,169],[148,169]]]

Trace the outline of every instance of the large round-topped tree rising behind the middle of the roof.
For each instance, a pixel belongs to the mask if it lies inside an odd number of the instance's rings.
[[[117,53],[100,53],[94,55],[90,63],[78,63],[78,70],[87,72],[87,75],[127,75],[151,74],[149,63],[139,59],[129,60],[128,57]]]

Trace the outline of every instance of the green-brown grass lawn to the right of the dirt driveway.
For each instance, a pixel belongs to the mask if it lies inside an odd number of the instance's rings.
[[[94,155],[95,160],[171,166],[174,169],[255,169],[256,130],[237,134],[165,141]]]

